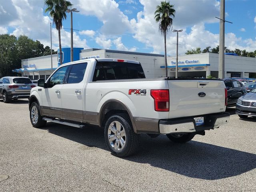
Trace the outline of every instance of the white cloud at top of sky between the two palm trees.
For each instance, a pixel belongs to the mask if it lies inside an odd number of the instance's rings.
[[[96,16],[103,23],[101,34],[121,35],[132,32],[132,27],[128,17],[118,8],[118,3],[114,0],[73,0],[80,8],[80,13],[84,15]]]

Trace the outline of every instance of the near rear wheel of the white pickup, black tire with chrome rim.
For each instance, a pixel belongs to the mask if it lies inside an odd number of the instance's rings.
[[[104,137],[110,152],[118,157],[133,154],[140,143],[140,135],[134,133],[127,114],[110,116],[104,127]]]

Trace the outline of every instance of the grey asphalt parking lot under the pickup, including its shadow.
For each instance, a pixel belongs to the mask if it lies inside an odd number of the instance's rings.
[[[256,118],[228,112],[228,125],[186,144],[142,134],[138,153],[117,158],[101,128],[36,129],[28,100],[0,100],[0,191],[255,191]]]

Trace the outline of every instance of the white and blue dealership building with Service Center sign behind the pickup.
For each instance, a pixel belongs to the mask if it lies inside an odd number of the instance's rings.
[[[70,48],[62,48],[63,63],[70,62]],[[164,55],[117,51],[107,49],[86,49],[74,48],[74,60],[87,58],[120,58],[125,60],[137,60],[142,64],[147,78],[165,76]],[[178,57],[179,78],[206,78],[211,75],[218,78],[218,54],[201,53],[182,55]],[[168,56],[168,74],[175,77],[176,56]],[[59,53],[52,55],[52,70],[60,66]],[[45,80],[52,74],[51,56],[24,59],[20,69],[13,72],[21,73],[30,79]],[[225,54],[225,77],[249,78],[256,74],[256,58],[242,57]]]

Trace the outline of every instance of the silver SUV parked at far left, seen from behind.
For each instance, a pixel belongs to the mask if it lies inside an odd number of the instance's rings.
[[[30,90],[36,87],[27,77],[3,77],[0,79],[0,98],[5,103],[10,100],[29,98]]]

